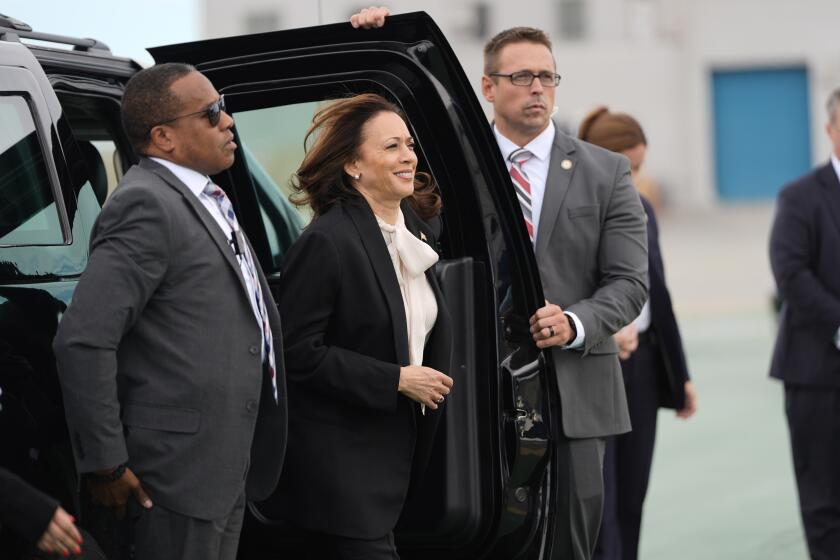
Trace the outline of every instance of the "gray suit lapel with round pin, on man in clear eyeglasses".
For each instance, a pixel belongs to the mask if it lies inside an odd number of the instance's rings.
[[[563,207],[572,176],[577,169],[574,152],[574,144],[565,134],[557,130],[554,133],[554,145],[551,148],[551,161],[548,164],[548,177],[545,181],[545,194],[537,229],[535,252],[538,260],[548,250],[548,243],[557,223],[557,215]]]

